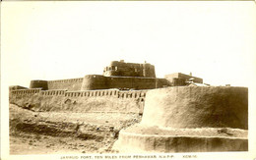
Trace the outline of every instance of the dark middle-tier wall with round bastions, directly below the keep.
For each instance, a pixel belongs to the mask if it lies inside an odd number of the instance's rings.
[[[32,80],[30,88],[42,90],[94,90],[109,88],[153,89],[169,86],[165,79],[140,77],[104,77],[101,75],[87,75],[85,78],[69,80]]]

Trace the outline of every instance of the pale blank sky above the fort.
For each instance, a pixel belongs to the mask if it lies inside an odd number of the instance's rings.
[[[102,74],[113,60],[248,86],[255,2],[3,2],[2,82]],[[220,5],[221,4],[221,5]]]

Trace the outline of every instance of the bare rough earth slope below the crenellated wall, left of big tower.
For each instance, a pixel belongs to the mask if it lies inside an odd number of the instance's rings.
[[[10,154],[111,153],[138,114],[33,112],[10,104]]]

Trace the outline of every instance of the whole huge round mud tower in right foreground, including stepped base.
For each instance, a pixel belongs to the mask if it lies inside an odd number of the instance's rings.
[[[248,88],[150,90],[141,123],[121,130],[113,149],[122,153],[248,151]]]

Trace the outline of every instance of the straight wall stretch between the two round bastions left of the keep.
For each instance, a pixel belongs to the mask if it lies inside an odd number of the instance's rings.
[[[80,90],[83,78],[68,80],[48,80],[48,89]]]

